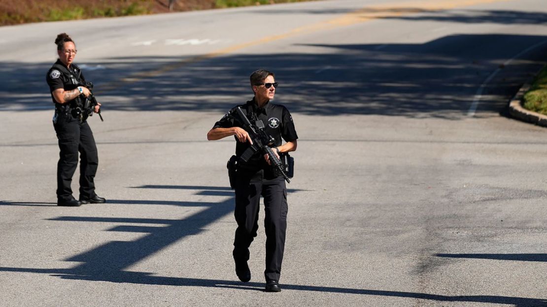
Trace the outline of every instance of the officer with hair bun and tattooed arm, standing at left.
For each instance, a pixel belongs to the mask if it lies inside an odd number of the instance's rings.
[[[74,41],[61,33],[55,39],[59,60],[53,64],[46,75],[51,99],[55,104],[53,127],[59,140],[59,162],[57,163],[57,205],[79,206],[88,203],[104,203],[106,199],[95,193],[95,173],[97,172],[97,146],[93,133],[83,110],[90,90],[85,86],[85,78],[78,66],[73,64],[77,50]],[[100,104],[94,107],[98,113]],[[80,152],[80,196],[72,196],[72,176],[78,166]]]

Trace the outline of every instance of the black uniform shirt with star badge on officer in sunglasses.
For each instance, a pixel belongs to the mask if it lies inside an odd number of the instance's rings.
[[[249,108],[249,105],[251,108]],[[274,104],[268,102],[264,105],[263,108],[258,108],[257,103],[253,100],[248,101],[246,104],[237,105],[232,108],[228,113],[217,121],[213,128],[231,128],[231,127],[243,127],[242,123],[238,122],[232,113],[235,112],[235,109],[240,107],[243,113],[247,115],[247,118],[251,123],[254,123],[254,118],[249,114],[249,109],[257,116],[258,120],[261,120],[264,123],[264,130],[267,134],[271,135],[275,139],[273,146],[281,146],[282,138],[286,142],[294,141],[298,139],[296,134],[296,129],[294,128],[293,117],[290,116],[289,110],[287,110],[284,105]],[[234,136],[235,137],[235,136]],[[237,138],[236,138],[237,140]],[[243,152],[249,147],[248,141],[241,143],[237,141],[236,143],[236,156],[241,156]],[[264,160],[264,157],[260,153],[253,155],[251,159],[246,163],[245,167],[267,167],[267,163]]]

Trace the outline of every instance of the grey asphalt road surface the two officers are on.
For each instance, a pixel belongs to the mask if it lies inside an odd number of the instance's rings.
[[[103,104],[106,204],[55,205],[60,32]],[[506,115],[546,52],[540,0],[0,27],[0,306],[547,306],[545,128]],[[234,274],[234,141],[206,140],[257,68],[300,137],[274,294],[261,223],[251,282]]]

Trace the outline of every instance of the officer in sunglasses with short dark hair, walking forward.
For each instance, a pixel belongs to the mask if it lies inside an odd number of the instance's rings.
[[[238,105],[251,122],[262,121],[265,131],[275,139],[273,152],[279,155],[296,150],[296,130],[292,116],[283,105],[271,102],[274,99],[278,82],[274,73],[267,70],[257,70],[251,74],[251,88],[254,97],[246,104]],[[234,135],[236,157],[240,157],[249,145],[251,137],[237,120],[231,109],[216,122],[207,133],[208,140],[218,140]],[[282,144],[282,138],[286,141]],[[269,165],[269,157],[256,152],[247,162],[239,160],[235,175],[235,219],[237,229],[234,240],[234,256],[236,275],[247,282],[251,280],[251,271],[247,265],[249,246],[258,231],[258,212],[260,195],[264,197],[266,232],[266,291],[279,292],[281,262],[285,245],[287,229],[287,187],[283,177]]]

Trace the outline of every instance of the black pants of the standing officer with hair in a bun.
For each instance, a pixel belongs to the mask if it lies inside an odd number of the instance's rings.
[[[94,178],[97,173],[98,155],[93,133],[86,121],[80,122],[69,112],[57,113],[53,127],[59,140],[57,163],[57,199],[71,200],[72,176],[78,166],[80,152],[80,199],[95,197]]]

